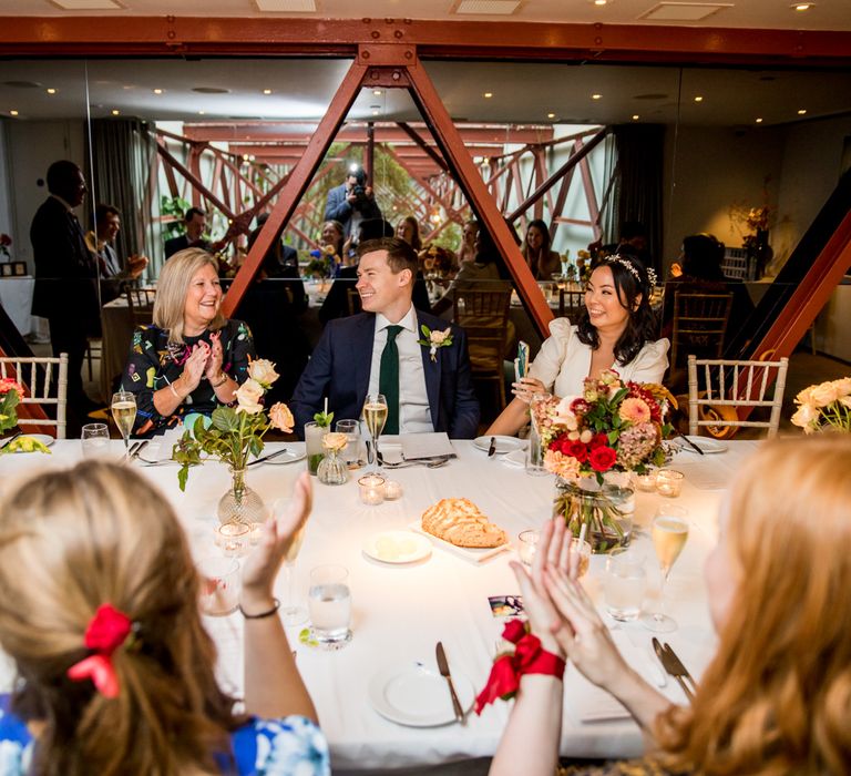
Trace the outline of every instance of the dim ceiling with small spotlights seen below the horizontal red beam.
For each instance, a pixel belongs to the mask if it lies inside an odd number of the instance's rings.
[[[93,118],[117,110],[147,120],[318,120],[348,64],[288,59],[8,61],[0,70],[0,114],[18,111],[19,120],[83,116],[88,88]],[[761,118],[770,126],[851,111],[848,70],[447,61],[426,68],[450,114],[470,122],[612,124],[638,115],[640,122],[716,126],[751,126]],[[193,91],[197,88],[227,91],[205,94]],[[265,95],[264,89],[273,93]],[[493,96],[484,98],[485,92]],[[696,96],[703,100],[696,102]],[[801,116],[799,110],[807,113]],[[363,90],[350,118],[420,116],[401,90],[379,95]]]

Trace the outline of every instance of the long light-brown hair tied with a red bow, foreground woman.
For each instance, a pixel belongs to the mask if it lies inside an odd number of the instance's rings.
[[[23,685],[14,709],[42,719],[37,772],[48,776],[219,773],[243,722],[216,684],[198,578],[166,500],[132,470],[86,461],[24,481],[0,504],[0,645]],[[68,668],[110,603],[137,642],[112,656],[114,700]]]

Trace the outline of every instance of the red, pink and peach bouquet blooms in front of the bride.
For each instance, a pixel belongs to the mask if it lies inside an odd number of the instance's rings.
[[[564,480],[595,477],[601,484],[607,471],[640,474],[662,466],[673,401],[663,386],[623,382],[614,369],[586,378],[582,396],[539,399],[532,413],[544,466]]]

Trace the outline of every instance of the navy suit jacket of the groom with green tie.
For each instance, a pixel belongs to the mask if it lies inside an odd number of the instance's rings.
[[[445,320],[416,313],[418,334],[422,324],[432,330],[447,327]],[[445,431],[453,439],[472,439],[479,429],[479,400],[470,375],[466,334],[458,326],[451,328],[452,345],[438,348],[435,361],[429,348],[422,347],[431,422],[435,431]],[[305,423],[321,411],[325,397],[336,418],[360,418],[369,390],[375,333],[372,313],[331,320],[325,327],[290,402],[299,436],[304,435]]]

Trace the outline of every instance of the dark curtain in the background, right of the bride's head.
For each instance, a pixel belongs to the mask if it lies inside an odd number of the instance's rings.
[[[618,124],[613,129],[619,167],[618,225],[639,221],[647,229],[656,270],[662,268],[662,192],[665,126]]]

